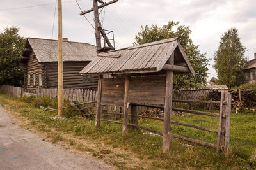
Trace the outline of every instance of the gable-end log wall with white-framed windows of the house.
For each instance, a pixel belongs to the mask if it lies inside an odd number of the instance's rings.
[[[36,59],[35,53],[32,51],[29,54],[29,59],[26,64],[23,64],[24,66],[24,87],[26,89],[26,92],[35,93],[36,88],[41,87],[39,85],[39,74],[44,77],[42,72],[42,64],[38,63],[38,60]],[[33,78],[35,74],[35,85],[33,83]],[[30,75],[30,85],[28,84],[28,76]]]

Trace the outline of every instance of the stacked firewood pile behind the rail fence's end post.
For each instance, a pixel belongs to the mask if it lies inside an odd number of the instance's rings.
[[[232,89],[228,90],[232,96],[232,107],[254,108],[256,106],[256,95],[251,89]],[[209,93],[209,99],[220,101],[221,91],[212,91]],[[220,108],[215,105],[214,108]]]

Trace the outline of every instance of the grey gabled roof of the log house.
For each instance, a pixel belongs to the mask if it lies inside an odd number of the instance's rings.
[[[97,56],[96,47],[88,43],[63,41],[63,61],[91,61]],[[35,52],[38,62],[58,61],[58,41],[41,38],[27,38],[25,49],[31,48]],[[29,56],[25,50],[23,56]],[[50,53],[51,52],[51,53]],[[26,60],[22,59],[21,62]]]

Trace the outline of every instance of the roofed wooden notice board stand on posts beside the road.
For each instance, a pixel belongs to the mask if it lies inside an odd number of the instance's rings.
[[[173,73],[195,75],[179,39],[164,39],[99,53],[80,73],[99,75],[97,127],[99,127],[100,121],[115,122],[100,119],[102,104],[122,106],[124,112],[123,123],[121,123],[123,124],[123,135],[127,133],[129,106],[134,103],[163,104],[163,152],[169,150]],[[106,74],[111,75],[112,78],[103,78],[103,75]],[[131,111],[132,113],[134,112]],[[136,124],[136,121],[132,122],[133,124],[129,125]],[[120,124],[120,122],[117,123]]]

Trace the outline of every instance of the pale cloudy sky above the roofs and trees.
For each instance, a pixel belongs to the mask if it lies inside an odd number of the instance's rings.
[[[111,0],[107,0],[109,2]],[[89,10],[92,0],[77,0],[81,10]],[[105,1],[104,1],[105,2]],[[24,37],[58,39],[56,0],[1,0],[0,32],[17,26]],[[63,37],[68,41],[95,45],[93,13],[80,16],[76,1],[62,0]],[[201,53],[212,59],[220,36],[231,27],[238,29],[248,60],[256,53],[255,0],[119,0],[100,12],[104,29],[114,31],[116,48],[132,46],[141,25],[166,25],[169,20],[189,26],[191,39]],[[55,15],[54,15],[55,13]],[[91,25],[92,24],[92,25]],[[217,77],[211,60],[208,80]]]

